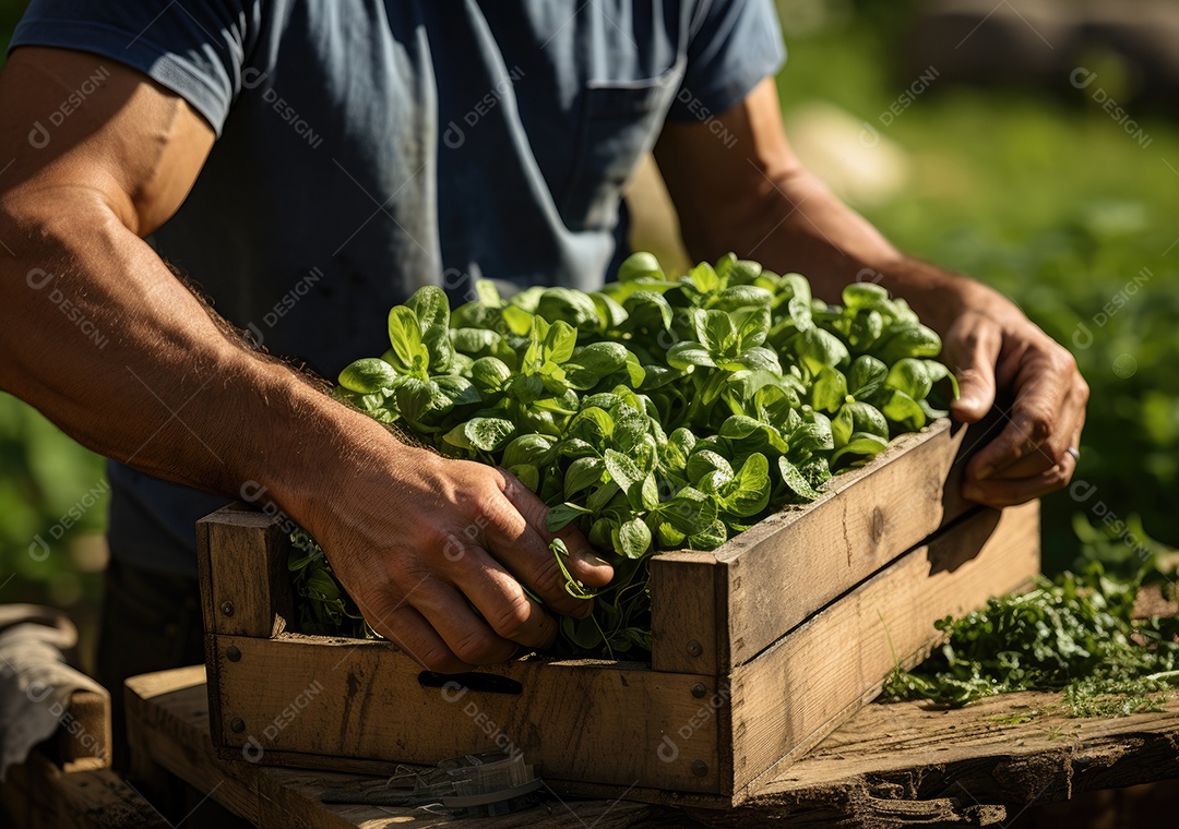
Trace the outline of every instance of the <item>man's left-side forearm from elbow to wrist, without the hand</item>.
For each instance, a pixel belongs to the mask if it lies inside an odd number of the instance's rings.
[[[328,458],[395,444],[226,334],[92,192],[8,198],[0,228],[0,387],[95,451],[228,497],[255,480],[302,519]]]

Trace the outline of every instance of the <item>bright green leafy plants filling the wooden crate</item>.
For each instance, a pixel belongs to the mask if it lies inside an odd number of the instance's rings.
[[[653,552],[713,550],[814,500],[957,393],[937,334],[870,283],[828,305],[804,277],[732,254],[671,278],[635,253],[601,291],[476,290],[453,312],[437,287],[393,309],[389,350],[345,367],[336,394],[507,469],[549,505],[551,530],[573,524],[608,558],[593,615],[561,619],[565,652],[645,656]],[[373,635],[309,538],[291,569],[304,630]]]

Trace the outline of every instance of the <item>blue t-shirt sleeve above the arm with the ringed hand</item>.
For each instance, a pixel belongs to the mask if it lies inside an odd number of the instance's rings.
[[[724,112],[785,60],[772,0],[703,0],[689,33],[684,81],[667,118],[698,121],[702,111]]]

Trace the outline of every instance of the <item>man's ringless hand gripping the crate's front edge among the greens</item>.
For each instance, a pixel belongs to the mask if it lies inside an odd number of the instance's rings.
[[[310,518],[374,630],[430,670],[455,672],[505,662],[521,645],[553,643],[556,624],[525,586],[558,614],[591,611],[590,601],[565,589],[548,546],[547,508],[514,476],[390,449]],[[612,569],[580,532],[568,526],[555,536],[569,550],[565,563],[575,579],[591,588],[610,582]]]

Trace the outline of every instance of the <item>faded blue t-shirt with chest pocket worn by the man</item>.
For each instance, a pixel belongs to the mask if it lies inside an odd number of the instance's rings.
[[[33,0],[24,45],[132,66],[209,120],[152,244],[328,378],[384,351],[384,310],[421,285],[600,286],[664,121],[707,120],[784,59],[770,0]],[[110,473],[112,555],[195,573],[193,522],[224,499]]]

